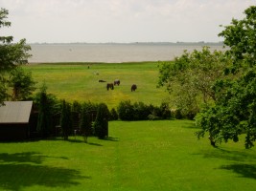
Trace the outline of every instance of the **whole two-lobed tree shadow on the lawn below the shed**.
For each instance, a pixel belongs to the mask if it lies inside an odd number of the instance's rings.
[[[35,152],[0,154],[0,190],[19,191],[33,185],[67,188],[91,179],[78,170],[41,165],[46,158],[51,157]]]

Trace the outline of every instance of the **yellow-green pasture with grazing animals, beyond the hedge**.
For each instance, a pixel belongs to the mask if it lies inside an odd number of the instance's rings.
[[[89,65],[89,69],[88,69]],[[156,88],[158,80],[158,62],[139,63],[52,63],[28,65],[33,78],[40,87],[45,82],[48,93],[68,101],[105,102],[109,109],[116,107],[121,100],[143,101],[155,106],[168,97],[164,88]],[[112,82],[120,79],[120,86],[106,91],[103,79]],[[138,89],[131,92],[136,84]]]

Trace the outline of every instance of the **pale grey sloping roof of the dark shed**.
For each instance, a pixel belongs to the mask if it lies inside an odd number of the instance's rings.
[[[5,101],[0,106],[0,123],[28,123],[33,101]]]

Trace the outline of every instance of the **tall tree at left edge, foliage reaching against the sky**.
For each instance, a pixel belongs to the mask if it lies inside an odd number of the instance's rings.
[[[0,10],[0,29],[10,27],[11,22],[7,20],[9,11],[1,8]],[[28,51],[31,47],[26,44],[25,39],[18,43],[12,43],[12,36],[0,36],[0,104],[7,97],[8,73],[15,67],[28,63],[31,54]]]

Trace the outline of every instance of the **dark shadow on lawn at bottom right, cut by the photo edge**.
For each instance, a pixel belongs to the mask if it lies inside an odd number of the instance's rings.
[[[230,170],[236,174],[241,175],[243,178],[256,180],[256,165],[252,164],[231,164],[221,166],[221,169]]]

